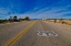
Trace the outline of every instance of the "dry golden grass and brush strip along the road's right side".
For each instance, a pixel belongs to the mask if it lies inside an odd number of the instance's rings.
[[[71,19],[48,19],[47,21],[71,25]]]

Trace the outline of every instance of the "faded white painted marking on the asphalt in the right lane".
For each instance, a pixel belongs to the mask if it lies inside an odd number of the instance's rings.
[[[52,37],[52,36],[58,36],[58,34],[53,31],[38,31],[37,33],[39,36],[48,36],[48,37]]]

